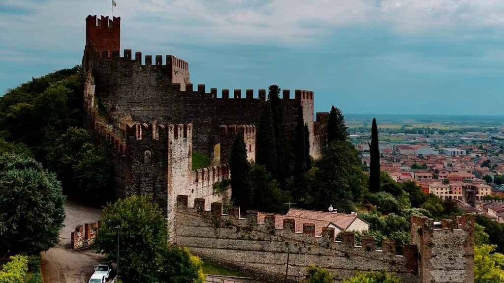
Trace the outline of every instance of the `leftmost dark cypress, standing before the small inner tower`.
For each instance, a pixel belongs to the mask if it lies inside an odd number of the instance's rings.
[[[231,156],[229,157],[231,170],[231,199],[240,206],[244,213],[252,202],[250,190],[250,165],[247,161],[247,151],[243,142],[243,132],[239,132],[233,142]]]

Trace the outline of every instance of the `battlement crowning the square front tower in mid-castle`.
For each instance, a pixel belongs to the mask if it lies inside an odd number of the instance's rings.
[[[126,136],[135,139],[160,139],[169,136],[175,138],[187,138],[193,134],[192,124],[145,124],[135,123],[126,125]]]

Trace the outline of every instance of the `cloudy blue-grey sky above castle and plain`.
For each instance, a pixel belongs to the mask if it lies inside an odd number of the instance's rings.
[[[121,49],[182,58],[207,91],[276,84],[343,114],[503,113],[501,0],[116,3]],[[111,13],[111,0],[0,0],[0,95],[80,64],[86,16]]]

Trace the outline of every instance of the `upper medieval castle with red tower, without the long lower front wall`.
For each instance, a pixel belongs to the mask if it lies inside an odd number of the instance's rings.
[[[213,194],[212,185],[229,178],[232,140],[244,134],[247,157],[255,160],[256,125],[266,103],[266,91],[194,90],[189,65],[172,55],[151,55],[131,49],[120,52],[120,17],[86,18],[86,47],[82,60],[85,127],[103,145],[114,164],[117,197],[152,194],[174,223],[176,195],[207,203],[229,195]],[[292,142],[297,109],[308,125],[310,155],[318,158],[325,142],[325,113],[313,120],[313,92],[283,90],[287,138]],[[220,147],[220,164],[192,170],[193,150],[213,157]],[[207,207],[210,208],[210,207]]]

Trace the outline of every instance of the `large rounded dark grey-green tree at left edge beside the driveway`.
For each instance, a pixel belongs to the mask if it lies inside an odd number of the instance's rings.
[[[33,158],[0,156],[0,250],[38,254],[59,242],[65,196]]]

